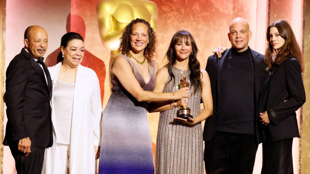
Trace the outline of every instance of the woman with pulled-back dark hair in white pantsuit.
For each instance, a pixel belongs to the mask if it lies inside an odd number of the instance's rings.
[[[49,67],[53,81],[53,146],[45,150],[43,174],[95,172],[100,147],[102,104],[96,73],[80,65],[84,41],[78,33],[61,38],[61,62]]]

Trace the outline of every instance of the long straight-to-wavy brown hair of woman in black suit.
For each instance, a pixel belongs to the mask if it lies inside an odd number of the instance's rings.
[[[270,28],[271,27],[276,27],[280,36],[285,40],[283,46],[281,49],[278,50],[276,59],[275,59],[275,64],[280,65],[284,60],[288,58],[289,55],[293,55],[300,64],[301,72],[303,72],[303,56],[301,53],[301,50],[299,48],[299,45],[296,41],[296,37],[294,35],[294,32],[292,28],[290,27],[290,24],[286,20],[277,20],[272,22],[268,28],[267,28],[267,33],[266,33],[266,38],[268,41],[268,47],[266,48],[265,51],[265,58],[264,62],[267,64],[267,71],[272,67],[272,56],[275,53],[275,50],[272,48],[272,44],[270,43]]]

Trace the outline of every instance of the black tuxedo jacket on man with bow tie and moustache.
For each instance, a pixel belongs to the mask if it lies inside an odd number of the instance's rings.
[[[45,66],[45,64],[42,64]],[[50,100],[52,81],[47,71],[47,83],[40,65],[24,49],[16,55],[6,72],[7,127],[3,145],[16,146],[29,137],[31,147],[53,144]]]

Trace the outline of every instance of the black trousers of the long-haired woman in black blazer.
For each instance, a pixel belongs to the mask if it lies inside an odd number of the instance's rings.
[[[293,174],[293,138],[263,142],[262,174]]]

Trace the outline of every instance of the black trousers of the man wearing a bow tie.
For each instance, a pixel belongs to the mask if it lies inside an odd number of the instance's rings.
[[[45,148],[33,148],[26,157],[24,152],[17,149],[17,146],[9,146],[15,159],[17,174],[41,174],[44,160]]]

